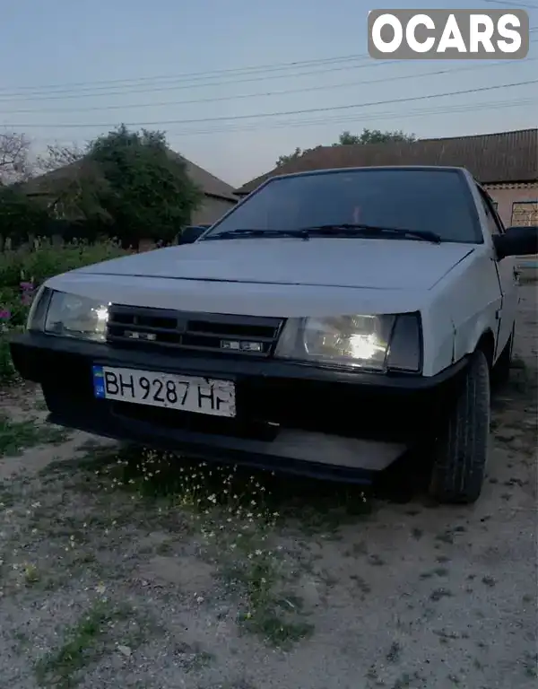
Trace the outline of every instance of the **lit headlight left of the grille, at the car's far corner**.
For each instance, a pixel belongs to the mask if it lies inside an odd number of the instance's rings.
[[[38,296],[34,313],[30,313],[29,317],[30,330],[39,329],[49,335],[104,342],[107,334],[107,304],[52,290]]]

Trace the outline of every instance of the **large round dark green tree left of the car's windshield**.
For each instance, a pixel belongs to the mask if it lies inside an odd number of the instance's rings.
[[[137,247],[143,238],[173,240],[202,200],[162,132],[118,126],[89,144],[85,160],[100,170],[100,207],[124,246]]]

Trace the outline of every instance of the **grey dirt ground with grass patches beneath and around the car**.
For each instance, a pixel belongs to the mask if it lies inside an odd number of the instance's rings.
[[[0,422],[0,687],[536,686],[536,285],[473,507]]]

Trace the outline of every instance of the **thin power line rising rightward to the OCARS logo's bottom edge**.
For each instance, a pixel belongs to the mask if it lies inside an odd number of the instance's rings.
[[[527,62],[535,62],[538,57],[531,57],[527,59]],[[383,83],[387,82],[398,82],[408,79],[421,79],[426,76],[438,76],[441,74],[459,74],[461,72],[473,72],[475,70],[488,69],[490,67],[497,67],[499,65],[509,65],[507,60],[499,60],[498,62],[488,62],[485,65],[467,65],[464,67],[449,68],[449,69],[439,69],[435,72],[421,72],[420,74],[396,74],[395,76],[388,76],[383,79]],[[122,105],[103,105],[103,106],[91,106],[90,108],[62,108],[62,109],[39,109],[39,114],[46,113],[65,113],[65,112],[89,112],[95,110],[126,110],[133,108],[155,108],[164,106],[178,106],[178,105],[192,105],[194,103],[214,103],[229,100],[244,100],[248,98],[263,98],[267,96],[282,96],[295,93],[307,93],[307,92],[317,92],[317,91],[332,91],[334,89],[346,88],[349,86],[362,86],[369,83],[379,83],[378,79],[367,79],[361,80],[359,82],[343,82],[343,83],[330,83],[317,86],[306,86],[298,89],[284,89],[282,91],[266,91],[266,92],[256,92],[256,93],[242,93],[238,95],[230,96],[219,96],[217,98],[200,98],[193,100],[167,100],[161,102],[150,102],[150,103],[127,103]],[[5,115],[21,115],[21,114],[31,114],[37,112],[36,109],[10,109],[5,111]]]

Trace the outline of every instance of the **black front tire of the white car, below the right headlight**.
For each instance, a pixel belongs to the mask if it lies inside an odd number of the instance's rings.
[[[482,492],[490,436],[490,367],[473,353],[447,423],[433,448],[429,493],[438,502],[471,504]]]

